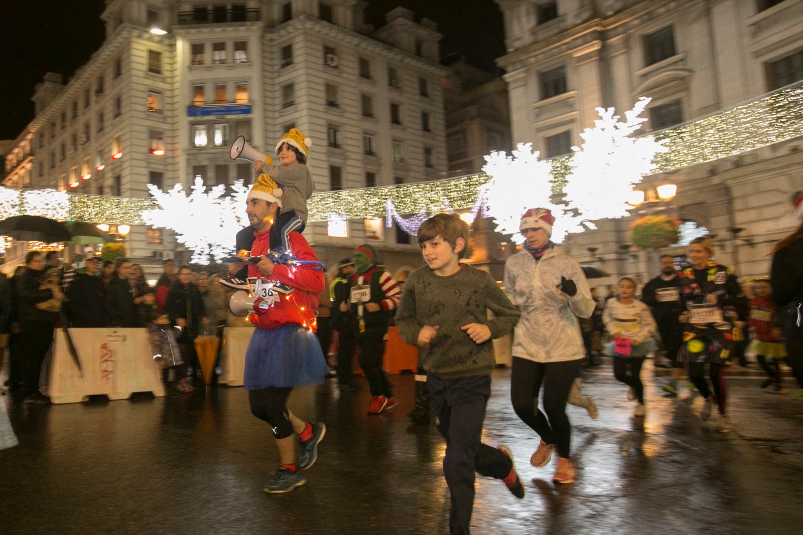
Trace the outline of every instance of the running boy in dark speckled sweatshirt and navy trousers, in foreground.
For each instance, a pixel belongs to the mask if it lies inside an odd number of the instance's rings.
[[[510,450],[480,441],[496,364],[491,339],[511,332],[521,314],[487,272],[460,263],[468,245],[465,221],[454,214],[430,217],[418,229],[418,244],[426,265],[407,278],[395,322],[405,342],[422,348],[430,407],[446,438],[450,533],[469,533],[475,471],[524,497]]]

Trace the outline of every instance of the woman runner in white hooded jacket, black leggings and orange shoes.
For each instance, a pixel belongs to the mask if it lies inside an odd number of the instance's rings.
[[[577,317],[594,310],[583,270],[561,245],[550,241],[554,218],[548,209],[530,209],[521,218],[524,249],[507,258],[505,294],[521,310],[513,337],[513,410],[538,436],[533,466],[546,466],[558,453],[556,483],[572,483],[571,426],[566,399],[580,371],[585,347]],[[544,385],[544,411],[538,409]],[[545,414],[544,414],[545,413]]]

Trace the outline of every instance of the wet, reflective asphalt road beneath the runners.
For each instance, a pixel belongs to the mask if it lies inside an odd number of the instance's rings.
[[[512,449],[527,496],[478,476],[472,533],[803,533],[803,402],[733,368],[734,432],[720,434],[697,418],[699,395],[664,397],[653,375],[647,363],[634,419],[609,363],[585,370],[600,415],[569,407],[579,476],[556,487],[554,456],[529,464],[538,440],[497,369],[483,440]],[[291,410],[327,433],[308,484],[272,496],[278,456],[241,387],[52,406],[3,395],[20,445],[0,457],[0,533],[448,533],[442,438],[405,419],[413,376],[391,379],[400,403],[374,416],[364,379],[353,394],[294,391]]]

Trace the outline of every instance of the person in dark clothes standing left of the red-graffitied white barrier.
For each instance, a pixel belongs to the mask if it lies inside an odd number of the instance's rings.
[[[64,294],[58,286],[40,289],[46,276],[44,267],[43,254],[29,251],[25,256],[26,270],[20,276],[17,288],[25,403],[50,403],[50,398],[39,392],[39,375],[47,350],[53,342],[53,328],[59,316],[37,305],[51,299],[63,301]]]

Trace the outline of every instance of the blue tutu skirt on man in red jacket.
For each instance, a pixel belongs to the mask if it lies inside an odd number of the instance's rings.
[[[324,382],[329,367],[315,334],[292,323],[271,330],[255,329],[246,351],[243,386],[307,387]]]

